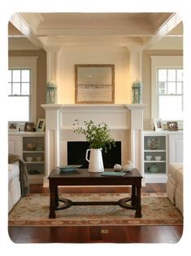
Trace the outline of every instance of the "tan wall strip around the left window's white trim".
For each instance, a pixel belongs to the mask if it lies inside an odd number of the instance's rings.
[[[45,118],[46,104],[46,51],[9,51],[9,56],[37,56],[37,119]]]

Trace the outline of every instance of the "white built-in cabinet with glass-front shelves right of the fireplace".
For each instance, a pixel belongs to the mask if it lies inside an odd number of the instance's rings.
[[[166,183],[169,163],[182,161],[182,131],[143,132],[142,173],[145,183]]]

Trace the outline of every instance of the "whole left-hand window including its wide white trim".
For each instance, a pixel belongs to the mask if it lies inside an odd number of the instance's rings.
[[[8,120],[36,121],[37,57],[9,57]]]

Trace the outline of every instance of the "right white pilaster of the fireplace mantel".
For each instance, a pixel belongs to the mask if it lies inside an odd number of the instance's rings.
[[[143,108],[145,104],[130,104],[127,108],[131,110],[131,161],[132,165],[140,170],[142,174],[142,152],[143,152]]]

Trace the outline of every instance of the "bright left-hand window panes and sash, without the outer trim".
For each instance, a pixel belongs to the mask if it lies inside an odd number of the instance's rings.
[[[29,121],[30,69],[9,69],[9,121]]]

